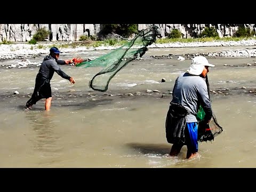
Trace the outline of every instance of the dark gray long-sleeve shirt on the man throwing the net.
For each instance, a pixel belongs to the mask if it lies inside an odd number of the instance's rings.
[[[60,69],[60,66],[58,66],[57,61],[51,55],[46,55],[38,71],[38,75],[41,75],[42,77],[51,80],[54,74],[54,71],[62,78],[65,78],[68,80],[70,79],[70,76],[68,76],[66,73],[64,73]]]

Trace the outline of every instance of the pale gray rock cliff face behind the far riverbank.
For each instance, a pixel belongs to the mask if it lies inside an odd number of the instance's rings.
[[[215,27],[220,37],[232,37],[239,26],[256,31],[256,24],[138,24],[142,30],[156,25],[161,30],[161,38],[165,38],[173,29],[178,29],[182,38],[193,38],[201,34],[205,27]],[[79,41],[82,35],[97,37],[101,24],[0,24],[0,43],[28,42],[38,28],[45,27],[51,32],[46,41]]]

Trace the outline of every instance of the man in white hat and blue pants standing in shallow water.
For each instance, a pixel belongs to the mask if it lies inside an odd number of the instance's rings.
[[[209,123],[212,108],[205,78],[209,67],[214,67],[203,56],[191,61],[189,69],[175,81],[172,101],[166,116],[166,138],[172,143],[171,156],[178,155],[182,146],[187,146],[186,158],[194,157],[198,152],[197,111],[201,105],[205,112],[204,121]]]

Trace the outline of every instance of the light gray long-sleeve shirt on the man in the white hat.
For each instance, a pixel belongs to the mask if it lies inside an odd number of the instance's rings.
[[[174,84],[172,101],[186,107],[191,114],[187,115],[187,123],[197,122],[196,114],[199,105],[202,105],[205,112],[205,120],[212,117],[211,101],[207,92],[205,78],[189,73],[180,74]]]

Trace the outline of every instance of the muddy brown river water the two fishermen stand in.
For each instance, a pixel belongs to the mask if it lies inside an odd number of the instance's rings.
[[[169,157],[171,144],[165,138],[170,91],[191,62],[177,60],[178,55],[245,48],[149,49],[142,61],[120,70],[106,92],[88,85],[100,68],[61,66],[76,83],[54,74],[51,111],[44,111],[43,99],[32,110],[23,110],[39,67],[0,67],[0,167],[255,167],[255,58],[209,58],[215,65],[208,74],[210,89],[217,92],[211,92],[212,108],[223,132],[212,142],[199,143],[198,157],[186,160],[186,146],[177,157]],[[60,59],[108,52],[74,51]],[[173,59],[150,57],[168,54]],[[41,62],[43,57],[30,61]],[[166,82],[161,83],[162,78]]]

